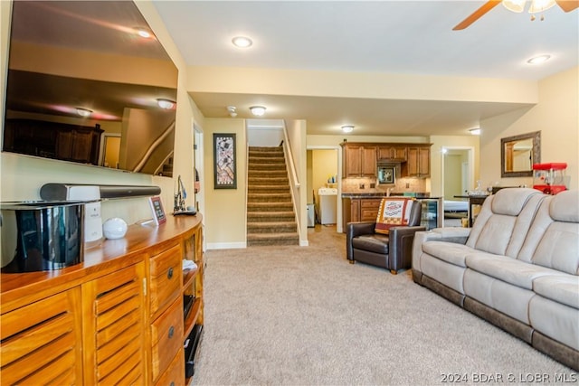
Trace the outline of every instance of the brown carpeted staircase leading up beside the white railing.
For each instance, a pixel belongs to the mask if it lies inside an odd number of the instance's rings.
[[[283,147],[250,146],[247,246],[299,245]]]

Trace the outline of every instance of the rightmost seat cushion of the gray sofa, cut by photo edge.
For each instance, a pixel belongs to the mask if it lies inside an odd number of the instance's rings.
[[[542,297],[579,309],[579,277],[557,275],[536,278],[533,290]]]

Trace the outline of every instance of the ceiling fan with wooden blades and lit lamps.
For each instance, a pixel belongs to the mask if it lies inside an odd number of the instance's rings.
[[[484,5],[482,5],[475,12],[470,14],[462,22],[457,24],[454,28],[452,28],[452,30],[453,31],[464,30],[470,24],[473,24],[474,22],[479,20],[480,17],[482,17],[484,14],[488,13],[491,9],[493,9],[499,3],[503,3],[503,5],[505,5],[505,7],[510,11],[523,12],[523,9],[525,8],[525,3],[527,3],[527,0],[502,0],[502,1],[501,0],[490,0],[487,3],[485,3]],[[579,7],[579,0],[556,0],[556,1],[555,0],[531,0],[530,3],[531,3],[531,6],[530,6],[529,11],[528,11],[530,14],[535,14],[537,12],[545,11],[546,9],[552,7],[555,4],[559,5],[559,7],[561,7],[561,9],[565,12],[571,12],[575,8]],[[531,20],[534,20],[534,16],[531,17]]]

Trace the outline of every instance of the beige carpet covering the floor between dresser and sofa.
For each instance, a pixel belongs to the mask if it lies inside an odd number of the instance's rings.
[[[576,384],[576,372],[414,284],[410,271],[348,264],[335,227],[308,233],[309,247],[206,252],[193,384],[432,385],[448,374],[521,383],[537,373]]]

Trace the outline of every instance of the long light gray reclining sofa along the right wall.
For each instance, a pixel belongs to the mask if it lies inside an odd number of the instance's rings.
[[[579,191],[506,188],[472,228],[420,231],[413,280],[579,371]]]

